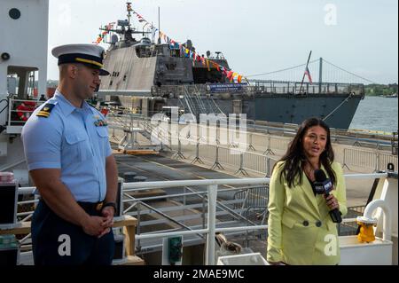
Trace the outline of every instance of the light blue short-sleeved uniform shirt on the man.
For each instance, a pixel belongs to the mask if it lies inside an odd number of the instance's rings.
[[[54,104],[50,116],[37,116],[46,104]],[[112,154],[108,127],[99,122],[104,116],[86,102],[73,106],[59,90],[43,106],[22,130],[27,168],[61,169],[61,181],[76,201],[104,200],[106,157]]]

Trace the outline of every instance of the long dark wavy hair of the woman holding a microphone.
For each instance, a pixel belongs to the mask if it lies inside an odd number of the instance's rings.
[[[327,124],[319,118],[309,118],[301,123],[300,128],[298,129],[295,138],[288,146],[288,150],[286,154],[281,158],[280,161],[285,161],[284,169],[281,172],[280,180],[282,177],[285,177],[288,186],[291,188],[294,185],[302,184],[302,170],[305,165],[306,156],[303,153],[303,137],[309,128],[314,126],[320,126],[327,132],[327,143],[325,144],[325,151],[320,154],[321,164],[325,167],[328,176],[330,177],[332,184],[335,184],[336,177],[335,173],[332,170],[331,164],[334,161],[334,152],[332,151],[331,138],[330,138],[330,128]],[[294,184],[295,178],[299,177],[298,184]]]

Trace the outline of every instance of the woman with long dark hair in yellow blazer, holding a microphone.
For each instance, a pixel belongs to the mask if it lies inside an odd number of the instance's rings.
[[[317,194],[316,169],[325,171],[333,190]],[[329,211],[347,214],[346,188],[334,161],[330,129],[317,118],[302,122],[270,178],[267,260],[271,264],[338,264],[337,226]]]

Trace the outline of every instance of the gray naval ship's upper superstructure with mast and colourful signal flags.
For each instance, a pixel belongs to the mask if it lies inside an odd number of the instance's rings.
[[[107,25],[103,33],[111,33],[105,66],[111,75],[102,80],[101,90],[151,90],[162,85],[195,83],[225,83],[226,79],[217,68],[229,69],[222,52],[212,58],[213,66],[203,64],[205,55],[192,60],[195,47],[191,40],[186,43],[154,42],[147,36],[152,31],[138,31],[131,27],[131,5],[128,3],[128,20],[118,20],[116,28]],[[137,40],[134,35],[142,35]],[[154,37],[154,36],[153,36]],[[197,54],[197,53],[195,53]],[[210,57],[207,51],[207,58]]]

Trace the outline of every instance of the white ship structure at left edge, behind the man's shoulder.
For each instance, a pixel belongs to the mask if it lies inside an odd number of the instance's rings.
[[[0,11],[0,171],[27,184],[20,132],[46,90],[49,1],[2,0]]]

